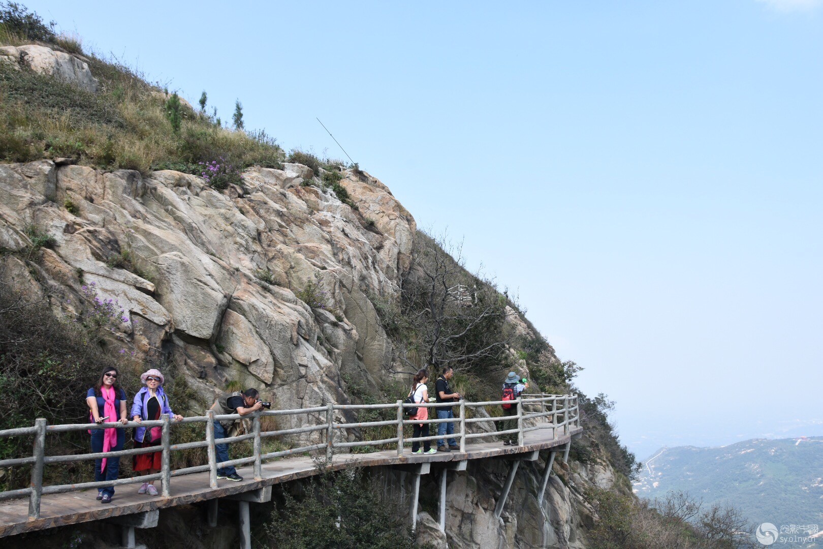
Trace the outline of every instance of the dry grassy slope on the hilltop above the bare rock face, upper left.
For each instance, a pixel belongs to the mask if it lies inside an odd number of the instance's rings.
[[[66,40],[43,44],[79,52]],[[31,43],[0,32],[0,45]],[[59,44],[63,44],[62,47]],[[73,157],[81,164],[147,173],[174,167],[197,173],[198,162],[225,158],[233,165],[279,167],[283,151],[263,132],[221,127],[217,120],[183,105],[175,132],[165,114],[167,95],[158,85],[116,60],[94,54],[86,61],[100,82],[98,93],[79,90],[25,67],[0,66],[0,159],[25,162]]]

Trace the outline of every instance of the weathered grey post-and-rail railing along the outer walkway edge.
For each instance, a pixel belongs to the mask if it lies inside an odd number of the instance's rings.
[[[523,398],[527,397],[527,398]],[[512,416],[499,417],[472,417],[467,418],[466,412],[468,408],[499,406],[504,403],[510,403],[517,406],[517,413]],[[524,407],[539,407],[539,412],[526,412]],[[407,419],[404,409],[407,407],[458,407],[460,415],[458,417],[446,419],[430,419],[419,421],[414,419]],[[365,421],[361,423],[338,423],[334,421],[334,412],[337,410],[382,410],[382,409],[397,409],[397,419],[388,421]],[[269,416],[300,416],[301,414],[318,414],[325,416],[325,421],[314,426],[298,427],[295,429],[283,429],[263,431],[261,430],[260,420],[262,417]],[[310,417],[310,416],[309,416]],[[550,421],[545,418],[551,417]],[[561,419],[559,419],[561,418]],[[405,444],[412,442],[424,442],[427,440],[441,440],[450,439],[460,440],[460,452],[466,451],[466,441],[469,439],[477,439],[483,437],[493,437],[498,435],[509,435],[516,433],[518,435],[518,444],[523,445],[523,435],[531,430],[551,428],[552,437],[557,438],[558,429],[563,430],[564,435],[568,435],[570,430],[574,427],[579,427],[579,403],[577,395],[523,395],[514,401],[490,401],[490,402],[426,402],[415,404],[404,404],[402,400],[398,400],[393,404],[332,404],[329,403],[322,407],[300,408],[297,410],[271,410],[254,412],[253,414],[244,416],[242,419],[249,419],[252,421],[252,432],[233,436],[224,439],[215,439],[214,436],[214,422],[215,421],[233,421],[241,419],[238,414],[231,415],[216,415],[212,410],[207,412],[206,416],[185,417],[181,421],[171,421],[168,414],[163,414],[160,420],[157,421],[128,421],[122,424],[115,423],[82,423],[82,424],[63,424],[63,425],[48,425],[44,419],[35,420],[35,425],[32,427],[21,427],[18,429],[0,430],[0,437],[8,436],[29,436],[34,435],[34,446],[32,455],[28,458],[12,458],[0,460],[0,468],[17,467],[21,465],[31,465],[31,482],[28,488],[21,488],[20,490],[10,490],[0,492],[0,500],[9,500],[18,497],[29,497],[29,519],[40,519],[40,498],[45,494],[59,494],[68,491],[81,491],[91,488],[104,488],[108,486],[121,486],[124,484],[134,484],[137,482],[148,482],[160,480],[162,486],[160,495],[168,497],[170,495],[171,477],[179,477],[180,475],[190,474],[193,472],[208,472],[209,486],[212,489],[217,488],[217,469],[226,468],[229,466],[243,466],[253,465],[253,476],[256,480],[263,477],[263,462],[274,458],[282,458],[294,454],[303,454],[313,450],[325,449],[326,458],[329,462],[332,460],[334,449],[347,449],[356,446],[366,445],[380,445],[380,444],[396,444],[398,456],[403,454]],[[542,425],[524,426],[524,422],[528,419],[542,420]],[[510,430],[496,430],[496,431],[480,431],[468,432],[467,426],[476,423],[496,421],[517,421],[517,428]],[[206,438],[196,442],[187,442],[183,444],[171,444],[171,429],[173,426],[187,423],[205,423]],[[403,427],[413,425],[416,423],[439,424],[439,423],[459,423],[459,432],[454,432],[452,435],[432,435],[417,438],[404,437]],[[361,429],[365,427],[378,426],[397,426],[397,436],[384,440],[355,440],[352,442],[336,441],[335,430],[350,430]],[[47,456],[45,455],[45,437],[46,434],[66,433],[77,430],[97,430],[97,429],[128,429],[134,427],[161,427],[162,436],[160,438],[160,446],[150,446],[147,448],[135,448],[128,450],[118,450],[114,452],[104,452],[97,454],[71,454],[61,456]],[[263,439],[272,436],[284,435],[300,435],[303,433],[313,433],[316,431],[325,432],[325,441],[320,444],[310,444],[301,446],[300,448],[292,448],[281,450],[277,452],[268,452],[263,454]],[[457,430],[455,430],[457,431]],[[234,444],[244,440],[253,440],[253,455],[246,458],[232,459],[230,461],[217,463],[215,444]],[[171,453],[180,450],[206,448],[208,453],[208,463],[194,467],[179,468],[172,470],[171,468]],[[61,484],[54,486],[43,486],[43,471],[46,465],[55,463],[72,463],[80,462],[98,458],[119,458],[123,456],[133,456],[137,454],[151,454],[154,452],[162,452],[162,467],[160,472],[153,475],[145,475],[142,477],[120,478],[114,481],[100,481],[100,482],[79,482],[74,484]]]

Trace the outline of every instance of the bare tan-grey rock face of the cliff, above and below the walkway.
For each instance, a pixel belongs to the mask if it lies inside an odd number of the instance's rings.
[[[14,252],[3,255],[4,281],[67,318],[90,292],[116,300],[124,314],[112,341],[146,363],[176,364],[198,395],[191,412],[229,382],[260,388],[278,408],[347,402],[346,379],[377,386],[393,365],[370,296],[398,292],[416,226],[377,179],[342,175],[356,208],[302,186],[312,177],[304,165],[253,168],[224,191],[174,171],[0,165],[0,246]],[[34,235],[54,242],[36,260],[26,253]],[[584,487],[611,486],[611,468],[558,460],[538,505],[542,467],[520,469],[502,519],[493,511],[504,462],[452,473],[448,536],[424,513],[421,538],[585,547]]]

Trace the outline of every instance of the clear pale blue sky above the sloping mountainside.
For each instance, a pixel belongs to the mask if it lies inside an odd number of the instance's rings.
[[[319,116],[519,291],[639,458],[823,435],[820,1],[25,3],[342,157]]]

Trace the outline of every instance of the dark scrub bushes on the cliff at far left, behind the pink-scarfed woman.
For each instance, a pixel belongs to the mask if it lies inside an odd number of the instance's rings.
[[[6,258],[6,260],[11,260]],[[25,398],[0,399],[4,429],[34,425],[35,418],[49,423],[81,423],[88,418],[84,395],[106,366],[119,368],[121,384],[128,384],[131,353],[124,349],[105,351],[102,335],[112,327],[113,302],[82,303],[87,314],[77,322],[58,319],[45,300],[32,301],[12,289],[9,277],[0,270],[0,394]],[[84,300],[85,301],[85,300]],[[122,321],[122,319],[121,319]],[[110,332],[109,332],[110,334]],[[106,341],[111,341],[107,337]],[[109,347],[111,347],[109,345]],[[119,351],[123,351],[120,353]],[[80,432],[49,437],[49,454],[86,451]],[[58,444],[54,449],[52,444]],[[0,439],[0,459],[30,455],[30,437]],[[0,479],[0,489],[14,489],[28,482],[28,468],[9,468]],[[86,472],[83,463],[47,468],[49,475],[77,482]]]

